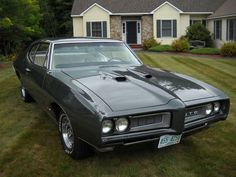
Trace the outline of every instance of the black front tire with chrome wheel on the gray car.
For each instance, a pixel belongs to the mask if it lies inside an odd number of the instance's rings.
[[[67,155],[77,160],[93,154],[93,148],[78,138],[70,119],[64,112],[60,113],[58,129],[62,147]]]

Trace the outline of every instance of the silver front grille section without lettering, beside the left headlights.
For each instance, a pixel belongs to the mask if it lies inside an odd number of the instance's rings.
[[[169,128],[171,114],[168,112],[133,116],[130,118],[130,131]]]

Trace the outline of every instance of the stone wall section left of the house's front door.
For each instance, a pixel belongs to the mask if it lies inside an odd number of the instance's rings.
[[[122,40],[121,16],[110,16],[111,38]]]

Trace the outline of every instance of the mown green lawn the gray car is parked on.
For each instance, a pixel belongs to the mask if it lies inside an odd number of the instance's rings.
[[[191,58],[139,52],[152,67],[184,73],[231,98],[227,121],[183,139],[179,145],[98,153],[82,161],[67,157],[57,127],[37,104],[21,102],[10,64],[0,67],[0,177],[235,177],[236,59]]]

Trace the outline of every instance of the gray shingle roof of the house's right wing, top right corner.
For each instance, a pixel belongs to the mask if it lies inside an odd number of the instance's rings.
[[[209,18],[217,18],[217,17],[230,16],[230,15],[236,16],[236,0],[227,0]]]

